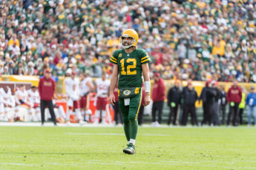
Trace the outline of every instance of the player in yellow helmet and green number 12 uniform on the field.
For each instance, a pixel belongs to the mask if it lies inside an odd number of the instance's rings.
[[[138,113],[142,101],[142,75],[145,81],[144,106],[150,102],[150,78],[148,62],[150,58],[145,50],[137,49],[139,35],[135,30],[125,30],[121,36],[123,49],[114,51],[110,62],[114,64],[111,77],[109,101],[114,105],[114,88],[118,81],[119,109],[122,112],[125,136],[128,147],[125,154],[135,153],[135,140],[138,131]],[[118,78],[119,75],[119,78]]]

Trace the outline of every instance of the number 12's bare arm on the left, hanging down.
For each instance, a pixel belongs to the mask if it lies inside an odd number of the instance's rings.
[[[118,74],[119,69],[117,64],[114,64],[113,68],[113,75],[111,77],[111,85],[109,86],[109,102],[114,105],[114,102],[116,102],[115,95],[114,95],[114,89],[116,87],[116,83],[118,81]]]

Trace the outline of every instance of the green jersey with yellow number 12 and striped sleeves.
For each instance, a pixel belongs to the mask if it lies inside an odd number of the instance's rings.
[[[116,50],[110,61],[119,68],[119,88],[142,86],[142,64],[150,62],[148,52],[137,49],[127,54],[125,49]]]

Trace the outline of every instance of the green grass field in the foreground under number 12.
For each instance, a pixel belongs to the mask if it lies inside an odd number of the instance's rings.
[[[256,169],[256,129],[0,127],[0,169]]]

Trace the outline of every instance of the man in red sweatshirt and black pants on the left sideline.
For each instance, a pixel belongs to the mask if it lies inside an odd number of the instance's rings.
[[[41,108],[41,118],[42,126],[45,123],[45,107],[47,106],[50,112],[50,116],[53,120],[54,125],[56,125],[56,117],[53,110],[53,95],[55,92],[55,81],[50,78],[50,70],[45,70],[45,76],[39,81],[39,95],[40,95],[40,108]]]

